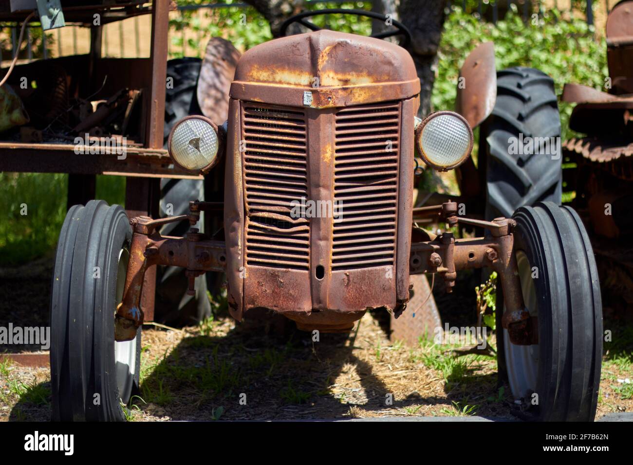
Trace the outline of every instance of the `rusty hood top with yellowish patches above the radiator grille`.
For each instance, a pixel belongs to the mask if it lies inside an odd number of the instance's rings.
[[[289,87],[290,96],[275,92],[287,92]],[[304,103],[303,92],[313,94],[312,104],[310,99]],[[237,64],[231,86],[233,98],[316,108],[401,99],[419,92],[420,80],[405,49],[384,40],[330,30],[253,47]]]

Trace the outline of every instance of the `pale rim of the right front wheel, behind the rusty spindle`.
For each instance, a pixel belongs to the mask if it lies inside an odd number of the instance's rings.
[[[517,269],[521,281],[523,302],[530,316],[538,316],[536,286],[532,279],[532,267],[523,251],[517,251]],[[505,307],[504,307],[505,310]],[[515,399],[536,392],[539,367],[539,345],[515,345],[510,342],[508,330],[503,330],[503,347],[508,371],[508,383]]]

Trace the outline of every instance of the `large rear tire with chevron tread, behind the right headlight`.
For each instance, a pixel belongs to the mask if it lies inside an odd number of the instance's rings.
[[[560,205],[560,131],[552,78],[523,66],[498,71],[497,99],[479,135],[487,220],[510,218],[518,208],[536,202]]]

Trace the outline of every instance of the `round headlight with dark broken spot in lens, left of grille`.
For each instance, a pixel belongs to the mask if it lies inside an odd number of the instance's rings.
[[[187,116],[169,134],[173,161],[187,171],[205,172],[218,161],[218,127],[204,116]]]

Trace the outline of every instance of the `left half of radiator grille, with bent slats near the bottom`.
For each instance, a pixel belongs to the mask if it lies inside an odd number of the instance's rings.
[[[292,218],[308,197],[306,118],[301,109],[242,102],[246,263],[310,269],[310,223]]]

